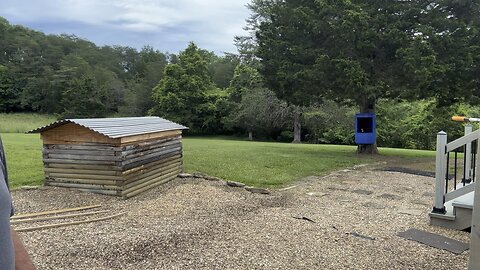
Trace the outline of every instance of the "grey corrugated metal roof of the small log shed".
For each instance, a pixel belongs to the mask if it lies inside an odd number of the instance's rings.
[[[65,119],[27,133],[40,133],[67,123],[74,123],[112,139],[169,130],[188,129],[172,121],[157,117]]]

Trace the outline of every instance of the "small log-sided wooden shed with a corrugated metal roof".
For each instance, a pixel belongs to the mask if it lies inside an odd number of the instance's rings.
[[[129,198],[182,171],[182,130],[160,117],[66,119],[43,140],[45,185]]]

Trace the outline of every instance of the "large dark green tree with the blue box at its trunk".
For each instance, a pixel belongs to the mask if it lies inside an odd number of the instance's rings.
[[[254,0],[261,73],[279,98],[321,98],[374,112],[380,98],[476,96],[475,1]],[[359,152],[376,152],[375,145]]]

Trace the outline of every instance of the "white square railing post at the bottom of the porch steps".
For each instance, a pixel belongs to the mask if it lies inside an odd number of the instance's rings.
[[[447,133],[437,133],[437,156],[435,160],[435,204],[432,213],[445,214],[445,175],[447,172]]]

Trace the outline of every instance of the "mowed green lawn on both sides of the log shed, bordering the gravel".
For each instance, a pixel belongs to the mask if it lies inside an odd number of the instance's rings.
[[[43,181],[42,143],[38,134],[2,134],[13,187]],[[415,167],[433,164],[435,153],[381,149],[381,156],[359,156],[354,146],[249,142],[222,138],[184,138],[187,172],[201,172],[248,185],[281,187],[302,177],[324,175],[381,160]],[[422,166],[423,166],[422,165]],[[423,166],[420,169],[425,169]]]

